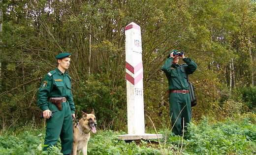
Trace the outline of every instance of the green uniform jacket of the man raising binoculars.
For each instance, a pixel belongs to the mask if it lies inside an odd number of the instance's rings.
[[[184,58],[183,61],[186,63],[174,64],[173,58],[169,57],[161,67],[168,79],[169,90],[189,90],[187,75],[192,74],[197,65],[189,58]]]

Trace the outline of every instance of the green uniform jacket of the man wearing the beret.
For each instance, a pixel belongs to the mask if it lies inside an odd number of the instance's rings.
[[[48,108],[49,97],[66,97],[71,113],[75,113],[75,104],[71,92],[71,77],[58,68],[50,71],[43,79],[37,96],[37,105],[44,111]]]

